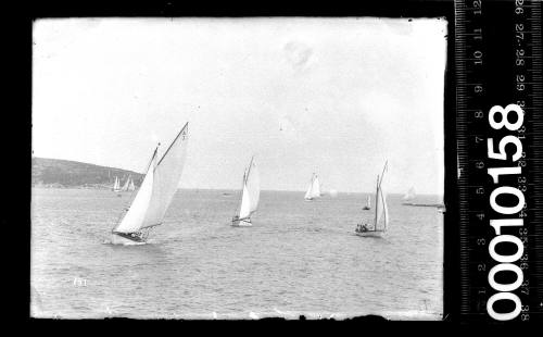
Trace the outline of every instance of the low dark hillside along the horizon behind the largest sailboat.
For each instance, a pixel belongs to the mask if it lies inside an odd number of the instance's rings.
[[[143,175],[132,171],[33,157],[33,187],[111,188],[115,176],[118,176],[123,185],[129,175],[137,187],[141,185]]]

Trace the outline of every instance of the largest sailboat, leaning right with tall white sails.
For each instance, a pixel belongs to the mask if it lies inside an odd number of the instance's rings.
[[[149,230],[162,224],[181,178],[187,140],[188,123],[160,160],[156,147],[130,208],[112,229],[112,244],[146,244]]]

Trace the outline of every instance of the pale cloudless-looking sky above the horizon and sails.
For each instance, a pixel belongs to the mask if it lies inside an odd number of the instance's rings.
[[[34,155],[142,172],[189,122],[180,187],[443,192],[441,18],[34,25]]]

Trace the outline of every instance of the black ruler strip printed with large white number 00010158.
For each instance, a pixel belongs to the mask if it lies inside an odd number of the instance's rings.
[[[541,3],[492,5],[455,1],[460,314],[530,321],[532,309],[543,309],[543,302],[534,308],[541,301],[538,273],[530,270],[538,235],[530,225],[534,182],[527,174],[533,159],[527,145],[536,137],[531,125],[539,123],[532,113],[541,113]],[[496,30],[505,33],[503,41],[489,35]]]

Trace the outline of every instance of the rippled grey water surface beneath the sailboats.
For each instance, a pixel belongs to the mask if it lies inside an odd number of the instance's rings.
[[[435,208],[389,196],[386,238],[363,238],[356,223],[374,213],[362,194],[263,191],[254,226],[236,228],[239,197],[223,192],[178,191],[150,244],[125,247],[104,242],[129,195],[33,189],[33,316],[440,319]]]

